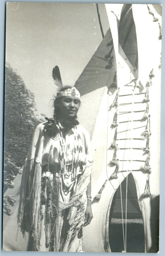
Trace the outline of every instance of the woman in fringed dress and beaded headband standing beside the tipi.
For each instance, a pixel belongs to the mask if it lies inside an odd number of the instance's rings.
[[[28,251],[82,251],[90,223],[92,168],[89,133],[77,121],[80,93],[63,87],[54,118],[39,124],[24,164],[18,223]]]

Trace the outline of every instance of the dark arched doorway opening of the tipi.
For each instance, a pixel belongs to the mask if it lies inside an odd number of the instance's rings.
[[[120,183],[113,196],[109,216],[109,243],[112,252],[123,251],[125,245],[127,252],[144,252],[144,226],[132,173]]]

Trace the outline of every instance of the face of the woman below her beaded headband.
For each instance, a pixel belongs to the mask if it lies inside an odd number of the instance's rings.
[[[61,97],[58,107],[61,115],[66,119],[70,119],[77,115],[80,108],[80,100],[71,96]]]

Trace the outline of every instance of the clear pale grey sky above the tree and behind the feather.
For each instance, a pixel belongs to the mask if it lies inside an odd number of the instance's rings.
[[[99,4],[104,34],[109,29]],[[8,2],[6,61],[34,93],[39,113],[52,117],[52,69],[74,85],[102,41],[96,4]]]

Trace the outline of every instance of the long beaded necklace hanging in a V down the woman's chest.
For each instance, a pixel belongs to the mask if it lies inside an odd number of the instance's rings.
[[[61,124],[56,124],[58,128],[58,136],[59,136],[59,142],[60,142],[60,152],[59,152],[59,160],[60,160],[60,166],[61,166],[61,173],[62,173],[62,182],[63,182],[63,191],[65,194],[67,194],[69,191],[71,191],[72,187],[74,186],[76,182],[76,174],[79,173],[80,167],[82,165],[82,141],[80,134],[77,131],[77,125],[75,125],[72,128],[73,136],[74,136],[74,144],[73,144],[73,150],[72,150],[72,164],[71,164],[71,173],[73,175],[72,182],[70,184],[67,184],[66,182],[66,160],[65,160],[65,140],[63,138],[63,132],[61,129]]]

